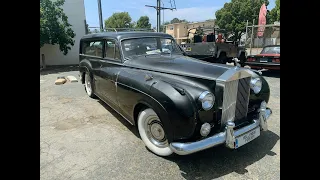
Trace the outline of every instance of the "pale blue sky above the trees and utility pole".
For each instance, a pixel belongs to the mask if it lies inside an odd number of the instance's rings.
[[[171,7],[170,0],[161,1],[165,7]],[[170,21],[175,17],[188,21],[214,19],[215,12],[222,8],[224,3],[230,1],[231,0],[175,0],[177,10],[165,10],[164,20]],[[149,16],[152,27],[155,27],[157,22],[156,10],[145,7],[145,5],[156,5],[156,2],[156,0],[101,0],[103,20],[110,17],[114,12],[126,11],[130,14],[133,21],[137,21],[140,16]],[[89,27],[99,27],[97,0],[84,0],[84,5]],[[274,8],[274,6],[275,0],[269,0],[268,9],[270,10]],[[163,12],[161,12],[161,16],[163,15],[162,13]],[[161,17],[161,23],[162,20],[163,17]]]

